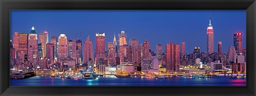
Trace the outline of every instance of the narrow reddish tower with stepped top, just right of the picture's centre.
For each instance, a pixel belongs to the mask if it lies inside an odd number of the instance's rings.
[[[150,46],[149,46],[148,40],[144,40],[142,47],[143,47],[143,48],[142,48],[142,56],[143,56],[143,59],[150,59],[151,54],[150,54],[150,52],[149,52]]]

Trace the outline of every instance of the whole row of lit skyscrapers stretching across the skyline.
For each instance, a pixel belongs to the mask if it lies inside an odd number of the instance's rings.
[[[93,48],[94,43],[90,36],[82,42],[83,38],[68,39],[66,34],[61,33],[59,36],[51,36],[51,42],[49,42],[46,30],[39,33],[38,38],[35,28],[32,27],[29,34],[14,33],[11,55],[16,64],[39,64],[43,68],[68,61],[72,61],[73,65],[75,61],[76,65],[87,64],[94,67],[102,64],[116,66],[129,62],[129,64],[133,63],[134,71],[157,69],[156,63],[159,65],[161,63],[161,66],[165,65],[166,71],[179,72],[180,65],[195,64],[194,61],[196,64],[199,62],[206,64],[216,60],[225,63],[229,60],[228,62],[235,63],[237,56],[246,51],[242,48],[242,33],[238,32],[234,34],[234,45],[229,47],[227,54],[222,53],[222,41],[218,42],[218,51],[214,52],[211,18],[206,31],[206,53],[202,53],[200,47],[196,46],[193,53],[187,54],[185,41],[180,45],[174,42],[166,43],[164,51],[163,45],[158,43],[155,46],[155,53],[150,49],[149,40],[143,40],[139,44],[137,38],[132,38],[128,43],[124,30],[118,34],[117,38],[114,33],[113,42],[108,42],[105,50],[105,35],[105,33],[95,33],[95,48]]]

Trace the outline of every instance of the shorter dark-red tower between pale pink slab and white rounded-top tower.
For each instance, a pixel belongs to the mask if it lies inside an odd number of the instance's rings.
[[[46,44],[46,58],[49,59],[51,65],[54,64],[54,43]]]

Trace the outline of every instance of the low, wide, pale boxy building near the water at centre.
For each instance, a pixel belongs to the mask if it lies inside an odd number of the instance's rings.
[[[121,70],[121,73],[131,73],[133,74],[135,72],[135,69],[134,69],[134,62],[122,62],[120,64],[120,70]]]

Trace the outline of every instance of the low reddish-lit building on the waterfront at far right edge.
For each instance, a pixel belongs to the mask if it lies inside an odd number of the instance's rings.
[[[232,64],[232,73],[233,74],[244,74],[246,73],[246,64],[245,63],[233,63]]]

